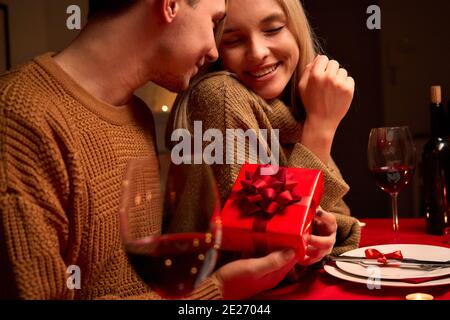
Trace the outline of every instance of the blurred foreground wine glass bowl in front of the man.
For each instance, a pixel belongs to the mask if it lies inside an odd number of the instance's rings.
[[[164,298],[181,298],[215,267],[220,197],[206,164],[170,164],[161,213],[161,201],[152,195],[159,175],[150,163],[128,163],[120,202],[121,237],[131,265],[150,289]]]

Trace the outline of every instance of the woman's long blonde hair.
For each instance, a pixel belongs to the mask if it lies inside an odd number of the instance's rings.
[[[230,1],[230,0],[228,0]],[[293,34],[300,49],[300,58],[297,65],[297,69],[291,77],[291,80],[282,94],[282,100],[287,104],[292,114],[297,120],[303,121],[305,118],[305,111],[301,102],[300,94],[298,92],[298,81],[307,64],[312,62],[318,52],[321,52],[320,45],[316,40],[316,37],[309,25],[306,13],[303,9],[300,0],[277,0],[286,14],[288,21],[288,29]],[[218,28],[216,34],[217,46],[220,45],[224,24]],[[166,131],[166,141],[170,144],[171,132],[178,128],[192,130],[192,124],[189,121],[188,116],[188,102],[191,90],[202,80],[218,74],[227,74],[234,76],[230,72],[220,70],[220,57],[219,60],[213,64],[205,66],[199,74],[192,79],[189,88],[180,93],[173,105],[172,113],[169,118]],[[251,91],[251,90],[250,90]],[[264,99],[257,94],[252,94],[258,103],[266,104]]]

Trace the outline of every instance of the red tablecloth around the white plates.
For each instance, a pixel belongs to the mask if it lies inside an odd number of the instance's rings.
[[[398,240],[393,240],[392,220],[362,219],[360,247],[388,243],[416,243],[450,248],[442,236],[425,233],[424,219],[401,219]],[[428,293],[436,300],[450,300],[450,285],[420,288],[386,287],[369,290],[365,284],[335,278],[323,269],[308,270],[295,284],[272,290],[258,299],[276,300],[404,300],[410,293]]]

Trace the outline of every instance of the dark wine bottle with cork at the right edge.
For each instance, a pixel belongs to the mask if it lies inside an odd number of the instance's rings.
[[[450,141],[441,87],[431,87],[431,139],[422,153],[423,196],[427,232],[442,235],[450,226]]]

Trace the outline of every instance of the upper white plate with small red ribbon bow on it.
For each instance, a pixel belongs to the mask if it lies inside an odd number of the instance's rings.
[[[420,260],[436,260],[436,261],[450,260],[450,249],[420,244],[388,244],[388,245],[371,246],[348,251],[343,255],[364,257],[365,256],[364,251],[369,248],[376,249],[381,253],[385,254],[400,250],[404,258],[413,258]],[[398,268],[392,266],[387,267],[383,266],[382,264],[375,265],[374,267],[365,267],[356,263],[343,261],[337,261],[336,265],[341,270],[360,277],[370,277],[376,271],[377,276],[379,276],[379,278],[386,280],[401,280],[404,278],[442,277],[445,275],[450,275],[450,267],[426,271],[419,269]]]

